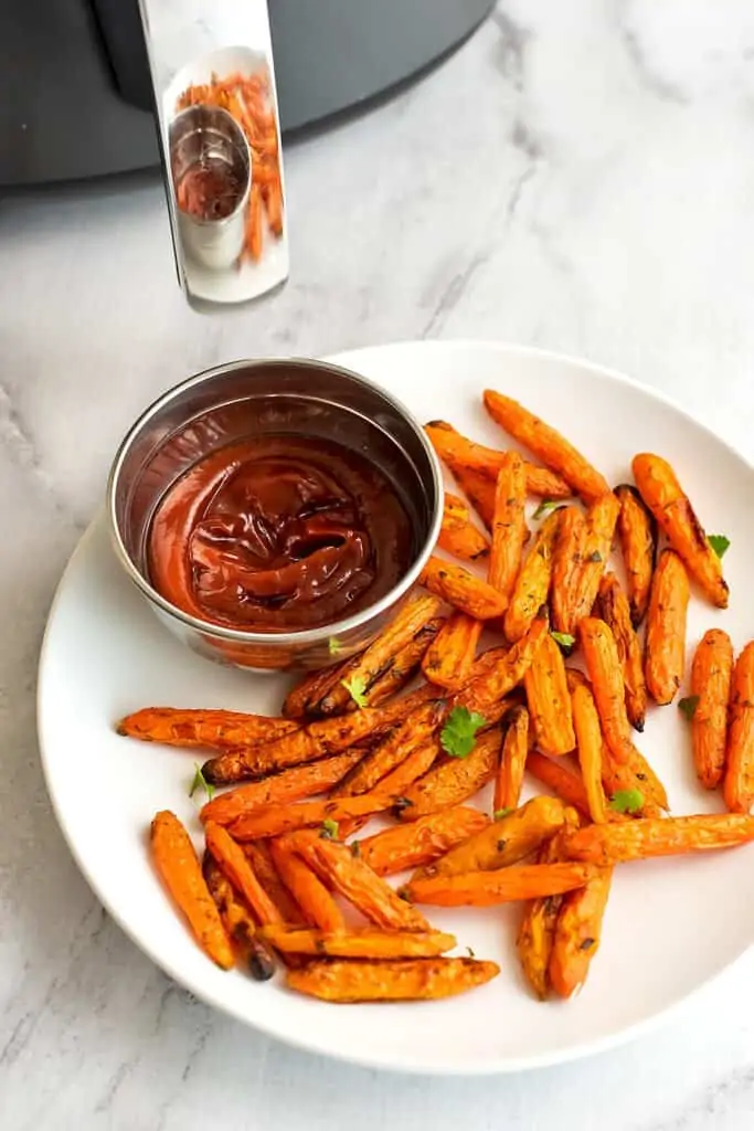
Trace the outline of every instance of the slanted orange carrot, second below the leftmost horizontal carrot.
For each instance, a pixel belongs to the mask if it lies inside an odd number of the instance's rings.
[[[364,751],[358,746],[345,750],[332,758],[322,758],[318,762],[304,762],[293,766],[280,774],[272,774],[261,782],[251,782],[236,789],[220,793],[202,806],[202,821],[217,821],[218,824],[232,824],[239,817],[252,813],[263,805],[279,805],[288,801],[303,801],[318,793],[327,793],[345,777],[362,758]]]

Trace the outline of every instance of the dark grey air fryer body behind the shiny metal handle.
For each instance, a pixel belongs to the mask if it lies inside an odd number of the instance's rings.
[[[355,106],[460,43],[492,0],[269,0],[284,131]],[[0,3],[0,184],[158,163],[137,0]]]

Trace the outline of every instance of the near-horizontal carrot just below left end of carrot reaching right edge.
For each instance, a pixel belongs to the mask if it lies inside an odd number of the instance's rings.
[[[571,840],[572,838],[569,839],[569,845]],[[517,899],[560,896],[564,891],[583,888],[592,875],[593,869],[587,864],[513,864],[494,872],[463,872],[460,875],[411,880],[401,890],[405,898],[416,904],[432,904],[435,907],[489,907]]]

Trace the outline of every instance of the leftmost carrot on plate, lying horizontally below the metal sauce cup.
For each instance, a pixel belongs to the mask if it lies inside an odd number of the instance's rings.
[[[298,724],[285,718],[242,715],[232,710],[192,710],[181,707],[145,707],[127,715],[118,724],[118,733],[141,742],[159,742],[166,746],[209,746],[234,750],[274,742],[294,734]]]

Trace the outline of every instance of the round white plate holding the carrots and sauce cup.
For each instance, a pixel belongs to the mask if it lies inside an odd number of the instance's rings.
[[[491,444],[487,386],[519,397],[562,431],[614,483],[631,457],[657,450],[678,468],[710,533],[731,538],[731,607],[700,599],[688,641],[725,625],[736,647],[754,636],[752,469],[702,425],[656,394],[583,362],[500,345],[416,343],[364,349],[337,361],[401,397],[422,420],[442,415]],[[154,812],[171,808],[198,827],[187,796],[191,753],[120,739],[113,723],[146,705],[272,713],[284,680],[213,666],[172,639],[125,580],[104,520],[76,551],[50,614],[42,650],[38,728],[47,787],[76,860],[124,931],[199,998],[291,1044],[366,1065],[413,1072],[520,1070],[593,1053],[635,1035],[736,959],[754,940],[748,898],[752,849],[655,861],[618,870],[603,946],[581,995],[540,1004],[521,983],[513,949],[517,909],[435,912],[502,974],[444,1002],[322,1004],[224,974],[205,958],[173,910],[147,856]],[[674,811],[721,809],[695,784],[685,724],[655,710],[639,745],[665,780]]]

